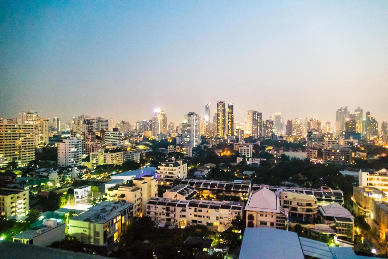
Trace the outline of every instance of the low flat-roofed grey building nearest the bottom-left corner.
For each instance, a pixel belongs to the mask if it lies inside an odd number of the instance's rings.
[[[18,233],[12,236],[12,242],[47,247],[53,242],[65,239],[65,226],[62,221],[43,219],[43,224],[38,229],[27,229]]]

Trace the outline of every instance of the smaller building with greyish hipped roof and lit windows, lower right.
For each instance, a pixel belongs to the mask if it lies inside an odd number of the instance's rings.
[[[325,223],[334,223],[336,236],[339,239],[353,242],[354,217],[338,203],[332,203],[319,208]]]

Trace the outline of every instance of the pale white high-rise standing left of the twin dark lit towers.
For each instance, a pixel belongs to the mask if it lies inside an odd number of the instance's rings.
[[[182,123],[182,144],[194,148],[201,144],[201,134],[199,132],[199,116],[190,112],[185,115]]]

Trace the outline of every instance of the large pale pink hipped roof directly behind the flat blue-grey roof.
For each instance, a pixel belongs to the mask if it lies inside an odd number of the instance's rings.
[[[253,191],[249,195],[245,210],[280,213],[279,197],[267,188]]]

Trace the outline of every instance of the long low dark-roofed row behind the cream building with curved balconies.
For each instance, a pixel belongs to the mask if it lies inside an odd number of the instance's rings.
[[[302,187],[285,187],[285,186],[271,186],[267,184],[253,184],[252,191],[262,188],[267,188],[277,193],[278,191],[290,191],[294,193],[303,193],[314,196],[319,206],[329,205],[331,203],[343,204],[343,193],[341,190],[334,190],[328,186],[321,186],[320,188],[302,188]]]

